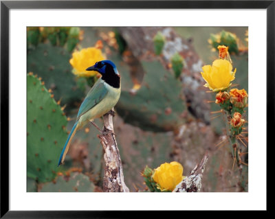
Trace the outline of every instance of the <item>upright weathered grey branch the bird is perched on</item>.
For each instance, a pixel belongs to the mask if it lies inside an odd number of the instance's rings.
[[[124,183],[120,150],[113,132],[113,113],[110,111],[105,114],[103,120],[103,132],[98,136],[105,152],[103,192],[129,192],[129,188]]]

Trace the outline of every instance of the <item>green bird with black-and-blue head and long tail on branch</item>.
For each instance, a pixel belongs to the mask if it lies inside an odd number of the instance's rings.
[[[96,62],[93,66],[88,67],[86,71],[98,71],[101,77],[96,81],[94,86],[91,87],[80,105],[76,122],[63,147],[58,166],[63,164],[72,139],[76,134],[76,130],[80,130],[89,124],[89,122],[94,124],[94,119],[102,117],[102,115],[111,111],[120,98],[120,73],[111,60]],[[94,126],[96,126],[96,124],[94,124]],[[98,128],[98,126],[96,126],[96,128]],[[98,130],[100,129],[98,128]]]

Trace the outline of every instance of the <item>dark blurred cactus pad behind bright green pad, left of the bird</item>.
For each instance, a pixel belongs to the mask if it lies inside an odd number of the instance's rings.
[[[74,107],[84,96],[72,74],[70,58],[71,54],[67,50],[43,43],[27,55],[27,71],[42,77],[47,89],[52,89],[54,98],[62,98],[61,104],[67,104],[66,109]]]

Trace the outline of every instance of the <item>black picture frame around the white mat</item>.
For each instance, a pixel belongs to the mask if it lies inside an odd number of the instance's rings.
[[[129,211],[10,211],[9,207],[9,13],[10,9],[266,9],[267,144],[274,145],[275,1],[1,1],[1,218],[124,218]],[[268,149],[268,148],[267,148]],[[268,152],[267,152],[268,154]],[[268,165],[267,165],[268,168]],[[261,173],[265,174],[265,173]],[[267,193],[268,194],[268,193]],[[62,200],[61,200],[62,201]],[[268,205],[267,205],[268,207]],[[141,212],[140,212],[141,213]],[[210,212],[209,212],[210,213]],[[186,214],[186,213],[184,213]],[[135,213],[135,216],[136,215]],[[140,214],[142,216],[142,214]],[[148,214],[146,214],[148,216]],[[209,215],[210,216],[210,215]],[[129,217],[129,216],[128,216]]]

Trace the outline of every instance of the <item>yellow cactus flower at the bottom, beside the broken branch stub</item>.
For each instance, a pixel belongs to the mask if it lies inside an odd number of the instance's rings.
[[[172,192],[176,185],[184,179],[183,172],[184,168],[176,161],[163,163],[155,169],[153,180],[159,185],[161,191]]]

